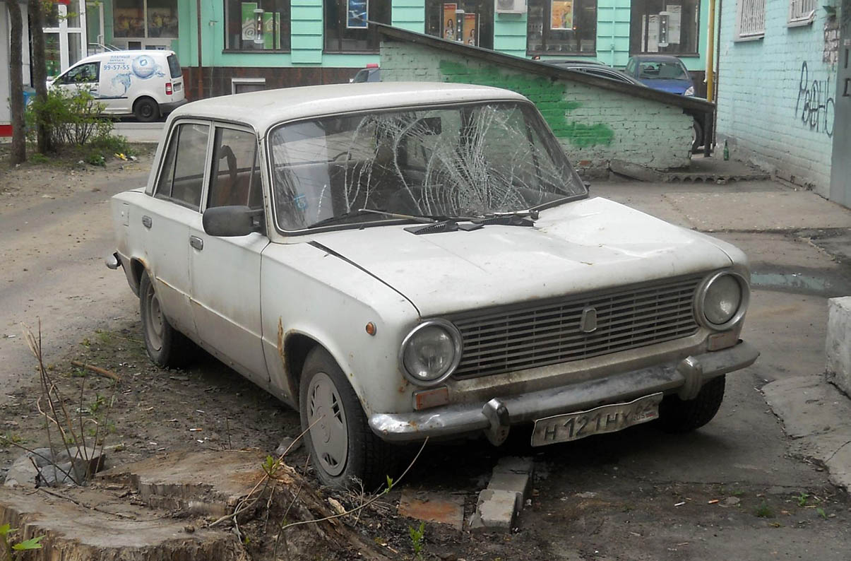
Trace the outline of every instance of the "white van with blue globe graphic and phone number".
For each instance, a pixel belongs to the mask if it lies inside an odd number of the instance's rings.
[[[126,50],[92,54],[71,66],[49,87],[89,89],[106,105],[106,115],[156,121],[186,103],[183,74],[170,50]]]

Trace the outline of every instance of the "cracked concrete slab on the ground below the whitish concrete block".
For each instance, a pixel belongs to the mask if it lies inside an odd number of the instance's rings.
[[[831,483],[851,489],[851,400],[823,375],[774,381],[762,394],[783,421],[791,453],[824,466]]]

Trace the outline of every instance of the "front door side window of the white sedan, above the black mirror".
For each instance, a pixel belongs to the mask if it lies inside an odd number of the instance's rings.
[[[215,130],[207,208],[239,204],[263,208],[257,140],[244,130]]]

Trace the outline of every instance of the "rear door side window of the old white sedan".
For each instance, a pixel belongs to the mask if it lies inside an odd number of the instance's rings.
[[[206,124],[178,125],[168,143],[168,152],[163,157],[155,196],[199,209],[208,136],[209,126]]]

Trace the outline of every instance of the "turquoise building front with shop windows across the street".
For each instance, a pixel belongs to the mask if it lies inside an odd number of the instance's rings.
[[[60,2],[45,30],[49,75],[97,43],[173,49],[191,96],[199,87],[209,95],[345,82],[379,61],[367,20],[529,58],[588,56],[625,66],[630,54],[677,54],[699,83],[705,67],[708,0]]]

